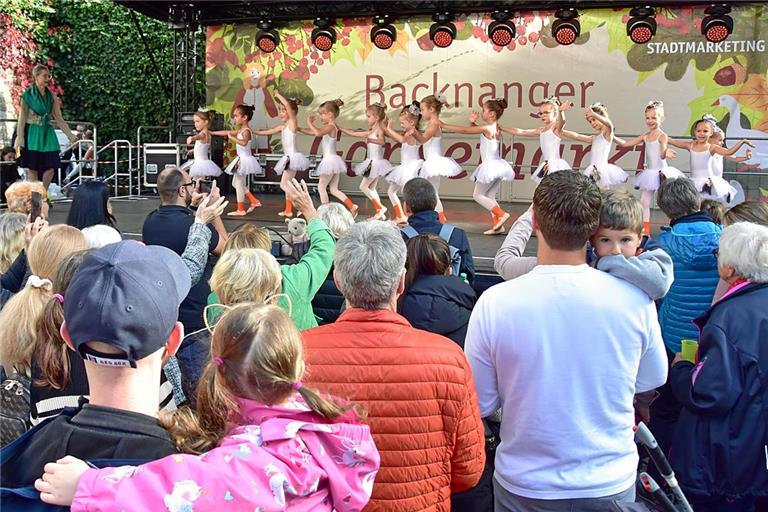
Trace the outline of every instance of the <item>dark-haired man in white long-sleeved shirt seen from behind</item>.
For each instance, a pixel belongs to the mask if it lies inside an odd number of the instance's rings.
[[[483,417],[502,409],[495,510],[608,510],[634,501],[635,393],[662,385],[656,308],[640,289],[584,263],[601,197],[578,173],[533,197],[538,266],[486,291],[465,351]]]

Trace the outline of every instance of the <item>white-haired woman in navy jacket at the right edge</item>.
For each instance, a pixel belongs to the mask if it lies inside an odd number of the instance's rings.
[[[728,226],[717,256],[728,291],[695,320],[696,361],[678,354],[669,374],[683,404],[671,462],[697,512],[750,511],[768,495],[768,227]]]

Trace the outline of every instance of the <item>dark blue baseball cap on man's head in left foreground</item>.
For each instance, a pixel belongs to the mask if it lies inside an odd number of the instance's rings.
[[[124,240],[92,252],[64,297],[72,345],[96,364],[135,368],[165,346],[190,284],[182,259],[165,247]],[[123,354],[97,352],[91,341]]]

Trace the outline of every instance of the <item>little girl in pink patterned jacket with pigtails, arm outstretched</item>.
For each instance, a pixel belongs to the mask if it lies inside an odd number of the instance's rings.
[[[75,511],[361,510],[379,453],[357,407],[301,385],[302,342],[276,306],[241,304],[216,324],[198,412],[177,412],[184,454],[90,469],[67,456],[35,482]],[[210,451],[208,451],[210,450]]]

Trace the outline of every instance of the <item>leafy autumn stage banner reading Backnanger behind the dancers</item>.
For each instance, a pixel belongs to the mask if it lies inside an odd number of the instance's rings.
[[[446,122],[468,124],[470,113],[480,111],[485,100],[503,97],[509,108],[500,124],[533,128],[539,125],[537,106],[557,95],[575,103],[566,116],[568,129],[591,133],[583,109],[599,101],[607,106],[617,134],[630,136],[646,131],[648,101],[662,100],[663,129],[672,137],[689,137],[693,124],[712,114],[726,133],[726,145],[751,139],[756,146],[752,158],[738,164],[726,161],[726,179],[736,180],[749,199],[768,200],[768,5],[733,6],[733,33],[721,43],[701,35],[702,8],[657,9],[658,29],[645,45],[627,37],[628,9],[580,14],[581,35],[571,46],[554,41],[553,13],[543,11],[514,18],[517,37],[506,47],[488,40],[488,13],[459,17],[456,40],[448,48],[430,41],[432,21],[427,18],[397,19],[397,39],[388,50],[371,43],[370,18],[337,20],[338,39],[329,52],[311,44],[311,21],[279,27],[280,43],[272,53],[256,46],[256,25],[213,26],[206,45],[207,106],[229,116],[240,103],[254,105],[252,127],[273,126],[280,122],[272,95],[278,87],[285,96],[303,100],[300,125],[306,126],[307,113],[323,101],[341,98],[345,104],[338,124],[362,129],[371,103],[384,103],[398,126],[402,108],[441,92],[450,107],[441,115]],[[479,161],[479,140],[449,134],[446,139],[446,154],[471,172]],[[311,136],[299,138],[307,153],[319,153],[319,142]],[[257,144],[263,152],[280,152],[277,136],[260,137]],[[574,168],[589,161],[589,145],[563,140],[561,147]],[[350,162],[365,158],[361,139],[342,136],[339,150]],[[538,140],[507,136],[503,151],[518,179],[505,184],[501,197],[530,198],[530,171],[541,158]],[[386,155],[399,162],[399,145],[389,141]],[[611,156],[611,162],[630,173],[642,167],[642,160],[642,146],[614,150]],[[670,164],[688,170],[688,161],[687,152],[679,150]],[[441,195],[471,196],[468,178],[443,182]],[[342,185],[356,189],[355,180]]]

